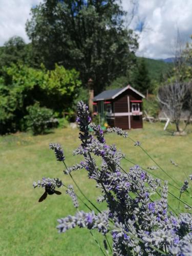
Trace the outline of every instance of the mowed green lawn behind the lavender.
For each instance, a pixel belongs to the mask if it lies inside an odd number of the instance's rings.
[[[192,174],[192,134],[171,136],[163,131],[163,126],[161,123],[144,123],[143,129],[129,131],[129,135],[140,141],[154,160],[181,186],[186,176]],[[155,165],[130,139],[107,134],[106,140],[109,144],[117,144],[127,159],[143,168]],[[38,203],[44,191],[34,189],[33,181],[42,177],[58,177],[66,185],[72,184],[70,177],[62,173],[65,169],[63,164],[56,161],[54,152],[49,150],[50,142],[63,146],[69,166],[81,160],[81,157],[72,155],[74,148],[79,145],[77,129],[57,129],[54,133],[35,137],[29,133],[0,137],[0,254],[102,255],[89,230],[77,227],[65,234],[57,233],[57,219],[76,212],[71,198],[65,194],[65,188],[60,189],[61,196],[48,196],[44,202]],[[170,159],[179,166],[170,163]],[[123,160],[122,166],[128,170],[133,164]],[[174,183],[160,169],[151,172]],[[77,171],[73,177],[90,200],[104,209],[104,204],[98,205],[96,202],[100,192],[95,188],[95,182],[87,178],[86,171]],[[179,190],[170,185],[169,188],[179,196]],[[76,188],[75,191],[80,196]],[[178,201],[172,196],[168,199],[170,206],[177,211]],[[182,195],[182,199],[191,205],[188,197]],[[180,208],[186,211],[182,203]],[[88,211],[82,203],[80,209]],[[93,233],[102,245],[101,234],[97,231]]]

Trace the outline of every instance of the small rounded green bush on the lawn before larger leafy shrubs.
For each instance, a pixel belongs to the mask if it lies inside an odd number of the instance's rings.
[[[25,116],[28,129],[32,130],[34,135],[44,134],[48,129],[53,117],[53,111],[45,107],[40,107],[39,103],[28,106],[29,115]]]

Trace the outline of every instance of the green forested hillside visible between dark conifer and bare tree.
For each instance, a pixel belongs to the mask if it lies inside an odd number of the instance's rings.
[[[140,59],[140,57],[138,57]],[[144,58],[148,74],[152,80],[160,81],[162,75],[173,69],[173,62],[166,62],[163,59]]]

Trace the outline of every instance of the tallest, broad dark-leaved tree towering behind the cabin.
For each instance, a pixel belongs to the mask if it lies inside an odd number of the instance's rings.
[[[137,37],[124,27],[124,14],[116,0],[44,0],[31,9],[26,31],[48,69],[75,68],[99,92],[135,59]]]

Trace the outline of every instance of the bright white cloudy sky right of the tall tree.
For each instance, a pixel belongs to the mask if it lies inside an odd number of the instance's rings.
[[[122,5],[128,10],[129,0],[122,0]],[[173,56],[177,30],[184,42],[192,34],[191,10],[191,0],[138,0],[132,27],[144,20],[145,30],[140,34],[137,55],[149,58]]]

